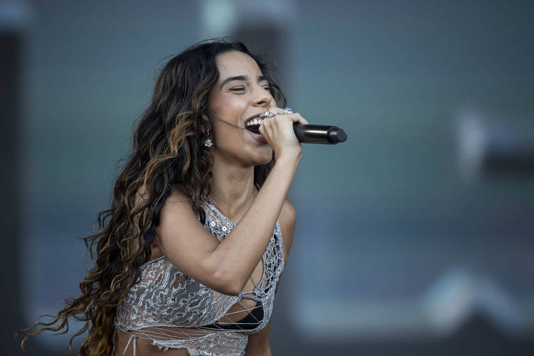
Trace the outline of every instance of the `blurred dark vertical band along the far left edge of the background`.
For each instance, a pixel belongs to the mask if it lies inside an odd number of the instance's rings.
[[[24,323],[22,290],[22,58],[24,56],[24,13],[17,6],[0,3],[0,257],[2,286],[0,299],[3,311],[0,334],[2,353],[17,355],[13,331]]]

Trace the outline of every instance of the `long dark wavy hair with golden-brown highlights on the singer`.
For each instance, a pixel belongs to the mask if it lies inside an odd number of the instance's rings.
[[[133,134],[131,154],[113,188],[111,208],[97,217],[98,229],[86,236],[92,268],[81,281],[81,296],[67,299],[66,306],[50,321],[38,321],[19,332],[26,340],[44,331],[69,331],[69,318],[85,322],[69,341],[88,330],[79,355],[108,356],[113,350],[113,316],[119,303],[140,278],[140,266],[149,261],[161,208],[172,188],[191,197],[191,207],[202,224],[202,207],[209,195],[213,156],[204,147],[209,117],[209,93],[218,81],[216,56],[227,51],[248,54],[268,78],[271,93],[285,106],[282,91],[269,68],[241,42],[208,40],[182,51],[159,72],[148,107]],[[202,118],[206,113],[209,120]],[[261,188],[273,160],[254,167],[254,186]],[[140,191],[144,199],[136,199]],[[96,254],[96,257],[95,257]]]

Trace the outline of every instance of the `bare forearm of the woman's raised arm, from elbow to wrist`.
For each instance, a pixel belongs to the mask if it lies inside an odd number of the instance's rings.
[[[210,256],[221,278],[241,291],[264,253],[300,161],[300,152],[277,159],[254,202]],[[230,276],[230,277],[229,277]]]

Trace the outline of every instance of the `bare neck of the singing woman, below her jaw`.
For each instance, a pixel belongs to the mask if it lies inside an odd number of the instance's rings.
[[[254,187],[254,167],[236,165],[214,157],[209,198],[232,223],[245,215],[258,191]]]

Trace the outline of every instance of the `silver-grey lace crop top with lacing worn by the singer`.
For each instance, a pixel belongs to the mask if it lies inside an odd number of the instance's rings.
[[[209,199],[204,210],[204,227],[219,241],[232,232],[234,224]],[[284,268],[278,221],[262,259],[261,280],[252,291],[242,291],[237,296],[219,293],[187,277],[165,256],[148,261],[141,266],[140,281],[118,306],[115,328],[130,337],[124,350],[116,350],[116,355],[125,355],[128,348],[133,348],[136,355],[137,338],[149,339],[161,350],[185,348],[191,356],[243,355],[248,334],[263,329],[273,312],[275,287]],[[243,298],[257,304],[245,307]],[[239,311],[229,312],[234,305],[240,306]],[[244,311],[248,313],[239,321],[227,318]]]

